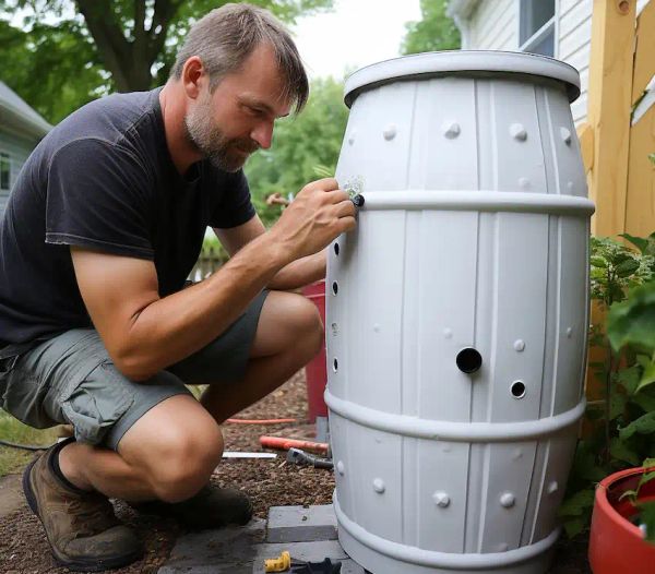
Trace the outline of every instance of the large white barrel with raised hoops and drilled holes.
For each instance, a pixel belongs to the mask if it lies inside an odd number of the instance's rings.
[[[325,402],[338,537],[374,574],[544,573],[584,410],[594,206],[577,72],[512,52],[346,82]]]

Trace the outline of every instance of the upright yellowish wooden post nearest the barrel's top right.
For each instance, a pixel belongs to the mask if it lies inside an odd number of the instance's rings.
[[[594,0],[588,123],[594,132],[592,234],[626,230],[636,0]]]

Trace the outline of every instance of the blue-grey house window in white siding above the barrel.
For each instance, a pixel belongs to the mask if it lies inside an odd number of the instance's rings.
[[[555,56],[555,0],[520,0],[521,51]]]

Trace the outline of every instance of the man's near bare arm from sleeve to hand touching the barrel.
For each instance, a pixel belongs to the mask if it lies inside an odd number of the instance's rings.
[[[243,246],[209,279],[163,299],[150,261],[71,248],[80,291],[117,368],[134,380],[207,345],[275,274],[355,227],[355,208],[334,180],[306,186],[275,226]]]

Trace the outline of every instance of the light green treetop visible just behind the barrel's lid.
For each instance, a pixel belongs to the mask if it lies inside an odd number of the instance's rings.
[[[460,48],[460,31],[446,15],[446,5],[448,0],[420,0],[422,20],[405,25],[407,34],[401,46],[403,55]]]

